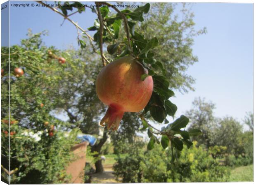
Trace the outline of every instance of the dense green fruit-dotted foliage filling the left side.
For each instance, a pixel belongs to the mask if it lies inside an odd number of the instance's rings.
[[[51,113],[57,108],[57,102],[61,101],[53,98],[57,94],[57,84],[60,83],[59,74],[65,74],[65,67],[69,66],[73,56],[53,47],[43,46],[42,34],[44,33],[28,32],[28,39],[21,40],[20,46],[10,47],[10,68],[7,62],[9,49],[1,48],[1,67],[6,72],[1,78],[1,154],[2,168],[8,169],[8,158],[11,159],[10,170],[14,173],[10,183],[69,182],[70,176],[66,174],[65,168],[75,160],[70,148],[78,143],[78,129],[73,129],[69,136],[64,136],[63,131],[70,124],[55,118]],[[61,56],[66,59],[66,63],[59,64],[57,59]],[[23,69],[24,75],[14,76],[16,67]],[[9,70],[10,79],[7,75]],[[8,93],[13,121],[10,128]],[[44,124],[46,121],[49,125]],[[8,182],[5,171],[1,175]]]

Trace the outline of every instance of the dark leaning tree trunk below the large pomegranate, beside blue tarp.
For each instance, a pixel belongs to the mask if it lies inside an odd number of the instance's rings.
[[[92,152],[97,152],[97,154],[93,155],[93,157],[100,156],[100,150],[104,143],[107,141],[107,138],[107,127],[105,127],[103,137],[102,139],[100,139],[100,142],[97,145],[95,144],[94,146],[92,146]],[[102,173],[104,171],[101,159],[95,162],[95,169],[96,173]]]

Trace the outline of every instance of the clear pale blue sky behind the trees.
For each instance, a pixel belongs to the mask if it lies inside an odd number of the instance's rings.
[[[31,28],[34,33],[49,31],[49,36],[43,37],[47,46],[77,46],[75,26],[68,21],[60,26],[63,18],[52,10],[10,7],[10,11],[11,45],[19,44]],[[178,106],[176,116],[189,110],[194,98],[200,96],[216,104],[215,116],[233,116],[242,121],[247,111],[253,111],[253,4],[194,3],[192,12],[196,30],[206,27],[208,32],[194,39],[192,49],[199,62],[187,71],[196,79],[196,90],[186,94],[176,91],[171,99]],[[95,18],[90,9],[71,16],[85,29],[93,25]]]

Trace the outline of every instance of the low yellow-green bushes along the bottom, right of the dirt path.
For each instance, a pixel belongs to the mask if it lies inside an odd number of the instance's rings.
[[[114,165],[116,177],[123,183],[159,182],[218,182],[228,181],[230,169],[220,166],[203,147],[185,147],[178,162],[171,162],[171,149],[154,147],[143,152],[133,147],[128,156],[117,158]]]

